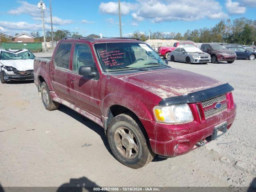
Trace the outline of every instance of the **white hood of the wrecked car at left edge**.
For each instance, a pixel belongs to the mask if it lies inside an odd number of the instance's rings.
[[[18,71],[34,69],[34,59],[0,60],[4,66],[16,68]]]

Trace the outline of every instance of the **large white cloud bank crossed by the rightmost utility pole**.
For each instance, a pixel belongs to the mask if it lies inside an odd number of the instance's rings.
[[[122,13],[132,12],[134,22],[144,19],[151,22],[171,22],[228,18],[228,14],[223,12],[217,0],[137,0],[134,4],[128,2],[122,4]],[[99,10],[105,14],[118,14],[118,4],[117,2],[101,3]]]

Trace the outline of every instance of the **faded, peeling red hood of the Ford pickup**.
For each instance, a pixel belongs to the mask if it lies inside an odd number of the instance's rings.
[[[210,77],[175,68],[119,76],[117,78],[148,90],[163,99],[223,84]]]

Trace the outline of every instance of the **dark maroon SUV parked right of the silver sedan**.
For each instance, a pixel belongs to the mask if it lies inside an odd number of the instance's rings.
[[[218,63],[219,61],[233,63],[236,60],[236,53],[220,44],[202,44],[201,50],[210,54],[212,63]]]

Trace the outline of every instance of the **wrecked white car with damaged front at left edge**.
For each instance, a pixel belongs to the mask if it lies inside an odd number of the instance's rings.
[[[18,80],[34,80],[35,56],[27,49],[0,50],[1,83]]]

